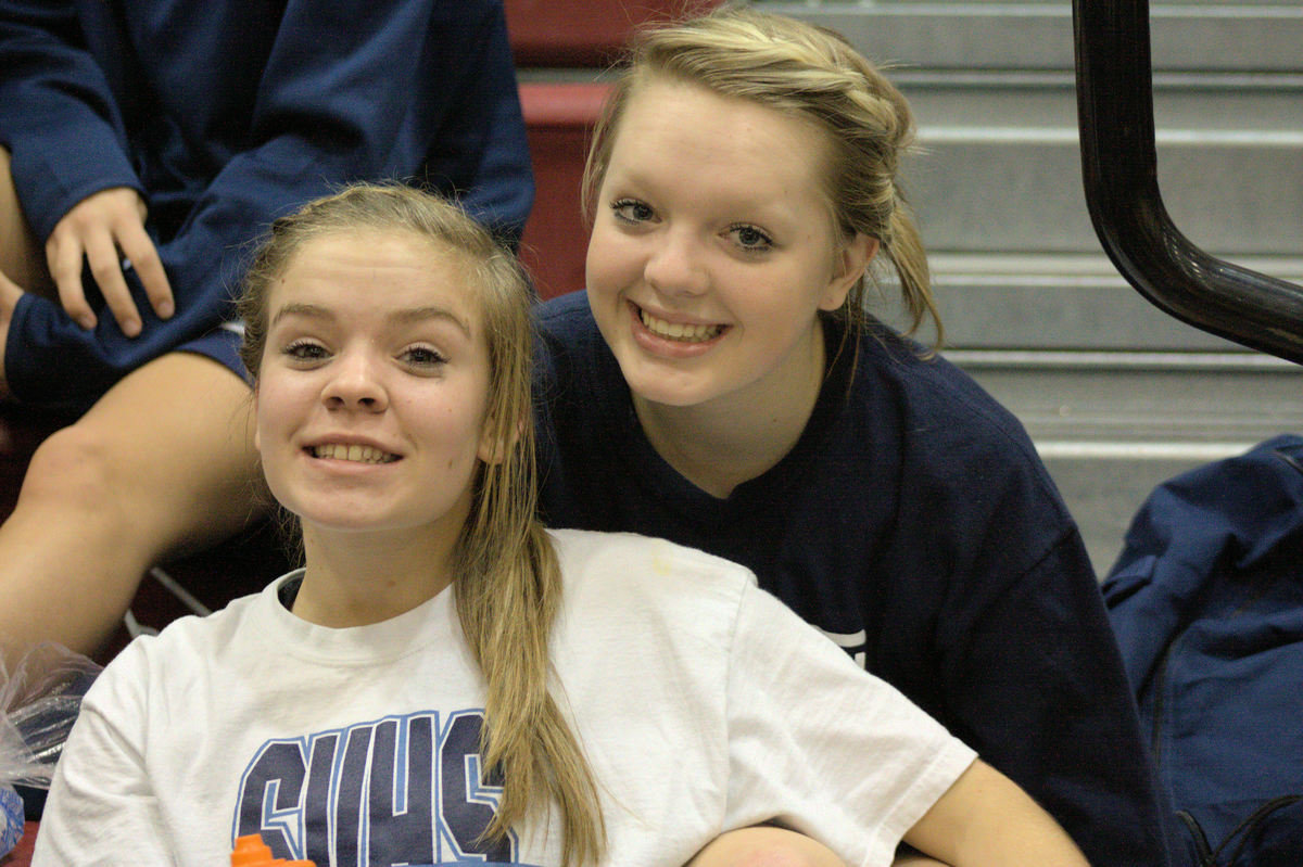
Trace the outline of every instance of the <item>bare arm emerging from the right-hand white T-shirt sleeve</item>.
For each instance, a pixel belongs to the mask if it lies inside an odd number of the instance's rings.
[[[954,867],[1088,867],[1081,850],[1050,815],[981,760],[960,775],[904,838]]]

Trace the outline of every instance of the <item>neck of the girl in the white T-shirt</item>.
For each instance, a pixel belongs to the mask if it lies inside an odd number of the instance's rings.
[[[308,568],[297,617],[343,629],[397,617],[452,583],[456,538],[429,526],[394,532],[304,530]]]

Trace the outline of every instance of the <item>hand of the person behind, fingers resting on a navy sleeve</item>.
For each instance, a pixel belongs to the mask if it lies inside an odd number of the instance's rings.
[[[121,256],[126,256],[136,268],[154,312],[163,319],[172,315],[172,288],[158,250],[145,233],[146,212],[139,193],[115,186],[74,204],[50,233],[46,241],[50,276],[59,286],[59,302],[64,311],[82,328],[95,327],[95,312],[86,302],[81,280],[82,256],[90,263],[104,303],[128,337],[141,333],[141,315],[126,289]]]

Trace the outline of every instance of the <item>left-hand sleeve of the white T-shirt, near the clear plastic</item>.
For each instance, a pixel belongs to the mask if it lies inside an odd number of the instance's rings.
[[[145,769],[142,655],[128,647],[91,686],[55,768],[35,867],[168,864]]]

